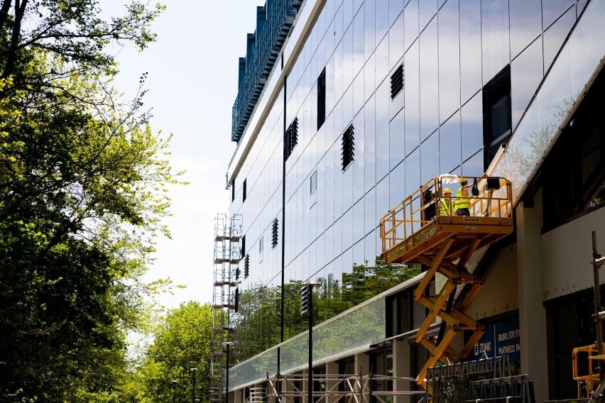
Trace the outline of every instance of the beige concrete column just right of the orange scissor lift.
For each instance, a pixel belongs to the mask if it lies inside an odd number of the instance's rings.
[[[516,209],[521,373],[533,380],[535,401],[548,397],[546,311],[543,307],[542,192],[533,207]]]

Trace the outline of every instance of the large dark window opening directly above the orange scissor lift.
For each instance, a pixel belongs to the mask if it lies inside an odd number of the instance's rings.
[[[511,138],[511,67],[506,66],[483,89],[484,169]]]

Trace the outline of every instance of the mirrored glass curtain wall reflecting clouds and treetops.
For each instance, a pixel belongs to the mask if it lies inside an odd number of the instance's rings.
[[[435,175],[484,173],[484,87],[509,69],[511,130],[529,121],[545,74],[565,74],[553,62],[593,52],[578,43],[560,54],[586,4],[323,1],[234,181],[231,214],[243,217],[248,258],[238,279],[240,361],[280,341],[282,250],[286,339],[306,330],[300,282],[321,284],[319,323],[418,273],[377,260],[379,219]],[[558,82],[566,94],[579,90]]]

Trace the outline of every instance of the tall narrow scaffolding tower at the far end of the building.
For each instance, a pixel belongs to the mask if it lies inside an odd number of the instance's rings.
[[[227,359],[235,354],[235,348],[227,348],[231,334],[236,332],[239,297],[239,260],[241,259],[241,215],[229,217],[217,214],[214,220],[214,292],[212,293],[212,380],[210,402],[223,402],[228,391],[224,391]],[[228,364],[229,363],[229,364]]]

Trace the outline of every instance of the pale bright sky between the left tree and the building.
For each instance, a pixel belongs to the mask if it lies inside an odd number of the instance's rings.
[[[119,11],[126,0],[102,0],[104,11]],[[153,3],[155,4],[155,3]],[[238,57],[246,52],[246,33],[256,26],[261,0],[165,0],[153,24],[158,34],[142,53],[116,51],[116,87],[132,97],[148,72],[145,103],[153,131],[174,137],[171,161],[187,170],[185,187],[170,190],[173,216],[166,223],[173,239],[160,239],[156,263],[146,280],[170,277],[186,285],[159,298],[166,309],[181,302],[212,302],[214,218],[226,213],[230,193],[225,174],[231,142],[231,106],[237,93]]]

